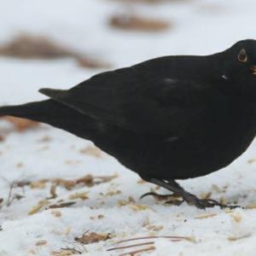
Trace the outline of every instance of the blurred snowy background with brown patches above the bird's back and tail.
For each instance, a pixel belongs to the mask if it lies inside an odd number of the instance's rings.
[[[1,1],[0,104],[160,55],[226,49],[255,38],[255,8],[252,0]]]

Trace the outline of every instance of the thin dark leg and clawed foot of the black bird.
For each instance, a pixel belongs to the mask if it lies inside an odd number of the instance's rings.
[[[185,189],[183,189],[174,180],[166,181],[166,180],[161,180],[154,177],[144,177],[144,176],[143,176],[143,179],[145,179],[149,183],[154,183],[156,185],[159,185],[160,187],[163,187],[165,189],[172,191],[175,195],[179,195],[180,197],[182,197],[183,201],[186,201],[189,205],[194,205],[195,207],[198,207],[200,209],[204,209],[207,207],[215,207],[215,206],[218,206],[221,208],[229,207],[212,199],[199,199],[197,196],[190,194]],[[236,206],[230,207],[230,208],[235,208],[235,207]]]

